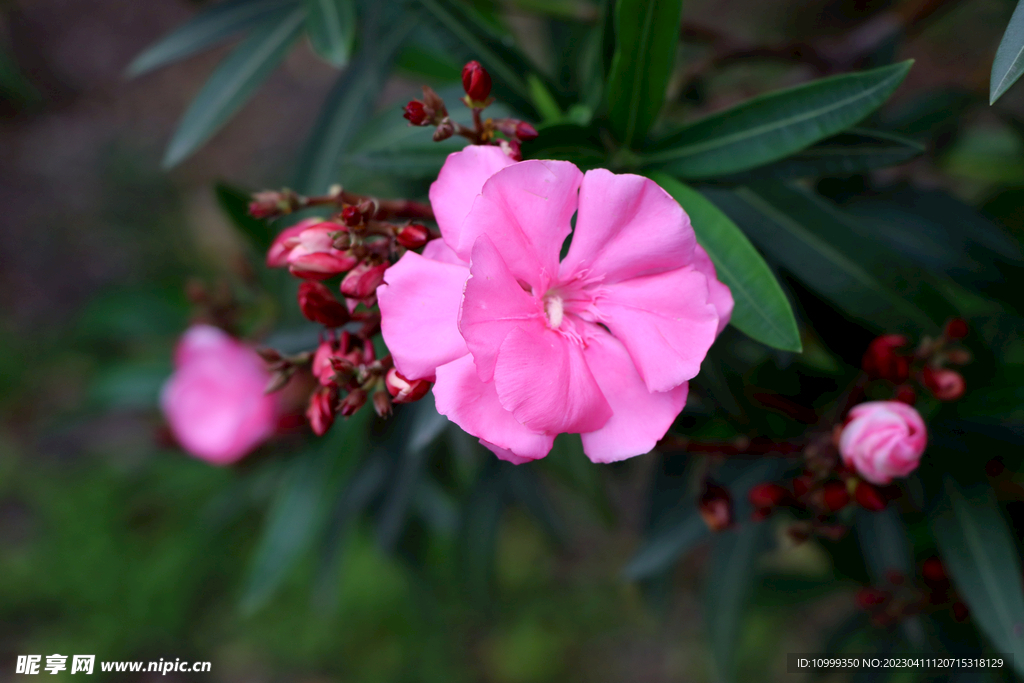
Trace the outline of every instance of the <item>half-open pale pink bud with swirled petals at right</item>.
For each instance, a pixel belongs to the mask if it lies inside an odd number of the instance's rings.
[[[897,400],[855,405],[839,437],[843,462],[877,484],[918,469],[926,445],[925,421],[912,407]]]

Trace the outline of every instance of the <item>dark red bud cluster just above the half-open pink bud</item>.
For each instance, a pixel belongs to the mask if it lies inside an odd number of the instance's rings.
[[[968,334],[963,318],[949,321],[937,339],[926,337],[913,351],[903,350],[907,338],[883,335],[867,347],[861,364],[868,380],[881,381],[894,387],[894,398],[912,405],[918,398],[911,380],[939,400],[956,400],[964,395],[964,376],[947,365],[963,366],[971,354],[956,342]]]

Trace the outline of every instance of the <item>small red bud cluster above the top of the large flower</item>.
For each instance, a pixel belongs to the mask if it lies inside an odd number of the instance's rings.
[[[472,144],[498,145],[509,157],[520,161],[522,143],[536,138],[537,130],[518,119],[483,119],[481,113],[495,99],[490,96],[490,75],[479,61],[470,61],[463,67],[462,86],[466,91],[462,102],[473,113],[472,128],[453,121],[444,100],[427,86],[423,86],[423,99],[414,99],[406,104],[402,116],[412,126],[433,126],[434,141],[461,135]]]

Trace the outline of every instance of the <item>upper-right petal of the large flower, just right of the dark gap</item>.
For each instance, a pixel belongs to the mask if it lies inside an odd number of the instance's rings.
[[[692,262],[694,245],[689,216],[653,180],[588,171],[561,279],[589,270],[615,283],[681,268]]]

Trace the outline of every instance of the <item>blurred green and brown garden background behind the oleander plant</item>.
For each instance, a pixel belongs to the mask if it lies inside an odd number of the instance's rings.
[[[170,445],[156,398],[191,314],[186,284],[255,291],[214,184],[284,183],[336,72],[303,43],[230,125],[164,172],[176,121],[225,50],[134,81],[123,72],[200,4],[0,5],[4,50],[27,79],[7,78],[0,103],[0,681],[16,678],[16,655],[53,652],[211,660],[202,680],[215,681],[711,680],[705,554],[681,564],[673,590],[622,578],[654,456],[593,475],[608,509],[555,487],[564,545],[523,510],[506,512],[486,599],[458,581],[451,536],[429,537],[424,570],[382,554],[356,522],[332,577],[336,602],[311,590],[309,558],[264,606],[240,606],[274,462],[257,455],[226,470],[191,460]],[[810,40],[892,4],[694,0],[685,13],[751,41]],[[947,97],[933,105],[944,137],[927,158],[884,173],[951,190],[1021,236],[1021,129],[983,106],[954,109],[958,95],[986,91],[1013,6],[949,4],[901,45],[898,57],[918,61],[886,110],[895,121]],[[527,3],[506,5],[523,47],[543,58],[550,46],[531,31]],[[807,76],[740,62],[693,87],[716,109],[766,80]],[[417,85],[396,77],[379,106],[399,116]],[[1024,91],[1002,106],[1024,117]],[[273,303],[252,297],[258,327]],[[826,594],[833,569],[813,544],[767,562],[775,571],[755,595],[739,678],[797,680],[782,654],[816,650],[825,630],[854,615],[856,586]]]

